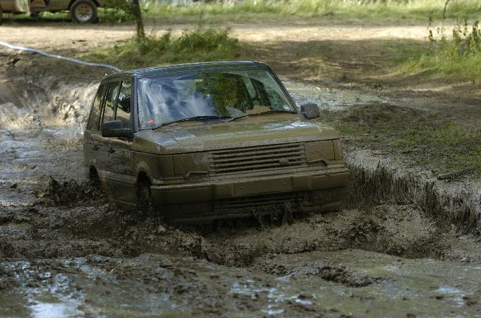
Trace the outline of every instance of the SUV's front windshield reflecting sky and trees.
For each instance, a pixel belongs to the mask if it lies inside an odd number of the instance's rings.
[[[139,79],[139,125],[159,127],[191,118],[238,118],[296,112],[269,71],[207,71]]]

